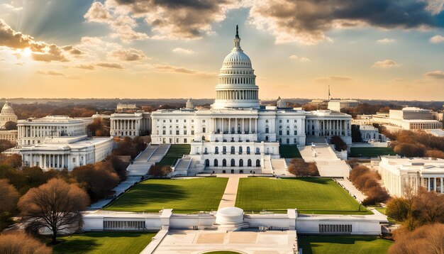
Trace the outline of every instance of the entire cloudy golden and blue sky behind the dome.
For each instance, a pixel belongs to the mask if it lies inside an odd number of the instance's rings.
[[[444,99],[444,0],[0,0],[0,97]]]

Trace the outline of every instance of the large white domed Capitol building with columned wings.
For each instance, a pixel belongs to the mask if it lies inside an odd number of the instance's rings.
[[[223,172],[227,167],[262,168],[279,158],[279,145],[306,145],[340,136],[351,143],[351,116],[337,111],[303,111],[262,106],[250,57],[234,47],[222,63],[216,99],[211,109],[195,109],[191,100],[184,109],[111,115],[111,136],[151,133],[153,144],[190,144],[192,165]],[[250,171],[250,170],[248,170]]]

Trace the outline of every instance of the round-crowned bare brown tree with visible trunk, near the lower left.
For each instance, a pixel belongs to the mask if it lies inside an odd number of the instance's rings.
[[[49,228],[52,243],[56,243],[58,231],[82,226],[81,212],[88,204],[89,197],[83,189],[64,180],[51,179],[23,195],[18,209],[27,231],[38,233],[41,228]]]

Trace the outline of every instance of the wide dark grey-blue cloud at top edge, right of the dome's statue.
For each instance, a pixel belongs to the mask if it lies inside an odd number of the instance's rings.
[[[442,4],[423,0],[260,0],[250,1],[248,22],[267,30],[276,43],[314,45],[331,40],[334,28],[430,28],[442,27],[436,14]],[[437,1],[438,2],[438,1]]]

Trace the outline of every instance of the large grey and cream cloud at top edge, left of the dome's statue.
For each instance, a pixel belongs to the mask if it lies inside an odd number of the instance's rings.
[[[94,14],[94,18],[104,16],[103,7],[114,16],[132,14],[133,18],[143,18],[152,27],[154,39],[197,39],[211,32],[212,23],[223,21],[228,9],[239,7],[236,4],[237,0],[107,0],[105,5],[93,3],[91,13],[101,13]],[[92,14],[85,18],[89,16]]]

